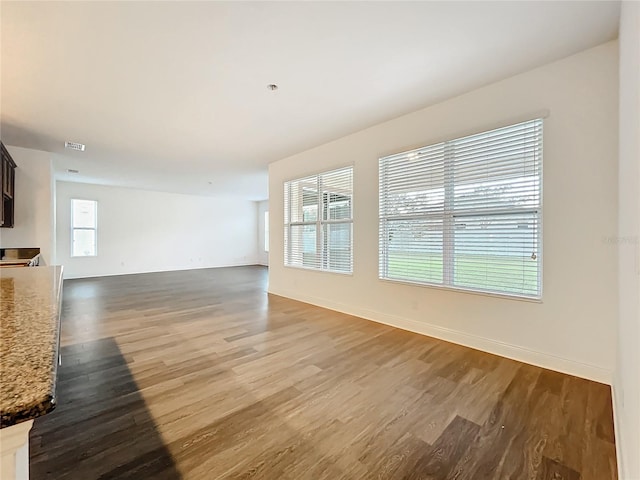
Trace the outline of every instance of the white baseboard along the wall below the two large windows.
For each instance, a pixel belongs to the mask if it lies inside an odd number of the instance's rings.
[[[346,305],[326,298],[314,297],[311,295],[300,295],[298,293],[283,290],[276,291],[272,289],[269,289],[269,293],[304,303],[310,303],[318,307],[328,308],[329,310],[346,313],[348,315],[354,315],[366,320],[383,323],[402,330],[408,330],[421,335],[438,338],[447,342],[456,343],[465,347],[517,360],[519,362],[547,368],[549,370],[555,370],[569,375],[574,375],[576,377],[586,378],[599,383],[611,385],[613,380],[613,372],[610,370],[596,365],[559,357],[546,352],[531,350],[525,347],[500,342],[498,340],[460,332],[458,330],[441,327],[439,325],[432,325],[426,322],[419,322],[417,320],[389,315],[387,313],[369,310],[367,308]]]

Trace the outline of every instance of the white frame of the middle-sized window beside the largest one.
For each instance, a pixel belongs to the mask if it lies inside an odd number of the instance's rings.
[[[331,174],[335,174],[336,172],[340,172],[341,170],[350,170],[350,177],[351,177],[351,190],[350,190],[350,196],[349,196],[349,201],[350,201],[350,217],[347,219],[336,219],[336,220],[331,220],[330,218],[324,218],[325,217],[325,211],[329,212],[329,204],[331,203],[330,200],[330,195],[331,193],[326,194],[324,192],[323,189],[323,185],[322,185],[322,179],[323,176],[328,176]],[[293,202],[291,201],[291,198],[286,198],[287,196],[287,191],[289,192],[289,195],[291,196],[292,194],[292,189],[290,188],[290,186],[296,182],[302,182],[305,180],[312,180],[315,178],[316,181],[316,191],[317,191],[317,196],[318,196],[318,203],[316,205],[317,208],[317,213],[316,213],[316,219],[315,220],[302,220],[302,221],[291,221],[292,218],[292,213],[291,213],[291,209],[292,209],[292,205]],[[314,174],[310,174],[310,175],[305,175],[303,177],[298,177],[298,178],[294,178],[291,180],[286,180],[284,182],[284,266],[286,268],[297,268],[297,269],[302,269],[302,270],[311,270],[311,271],[315,271],[315,272],[324,272],[324,273],[336,273],[336,274],[340,274],[340,275],[353,275],[353,245],[354,245],[354,241],[353,241],[353,218],[354,218],[354,214],[353,214],[353,178],[354,178],[354,166],[353,164],[350,165],[345,165],[343,167],[338,167],[338,168],[333,168],[331,170],[325,170],[319,173],[314,173]],[[304,187],[302,187],[304,188]],[[289,207],[289,211],[287,212],[287,206]],[[303,215],[304,218],[304,215]],[[328,245],[328,242],[326,240],[326,238],[329,236],[328,233],[328,229],[325,229],[324,227],[327,225],[349,225],[350,226],[350,242],[349,242],[349,269],[348,270],[337,270],[337,269],[332,269],[330,267],[331,265],[331,260],[330,260],[330,253],[328,251],[328,249],[326,248]],[[316,246],[316,257],[320,258],[320,266],[316,267],[316,266],[309,266],[309,265],[296,265],[291,263],[292,262],[292,258],[293,258],[293,242],[291,242],[289,239],[292,238],[292,227],[305,227],[305,226],[315,226],[315,234],[316,234],[316,238],[315,238],[315,246]]]

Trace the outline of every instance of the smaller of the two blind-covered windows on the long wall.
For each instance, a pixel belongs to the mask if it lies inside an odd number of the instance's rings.
[[[284,184],[284,264],[353,271],[353,167]]]

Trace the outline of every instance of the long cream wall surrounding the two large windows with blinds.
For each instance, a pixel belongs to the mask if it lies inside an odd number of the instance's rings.
[[[617,43],[270,165],[269,291],[611,382],[617,317]],[[377,278],[378,158],[548,110],[542,303]],[[283,267],[283,182],[354,165],[352,276]]]

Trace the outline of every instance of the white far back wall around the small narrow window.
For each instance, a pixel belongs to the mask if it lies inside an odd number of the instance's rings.
[[[98,255],[70,258],[70,200],[98,201]],[[255,202],[57,183],[65,278],[257,263]]]

